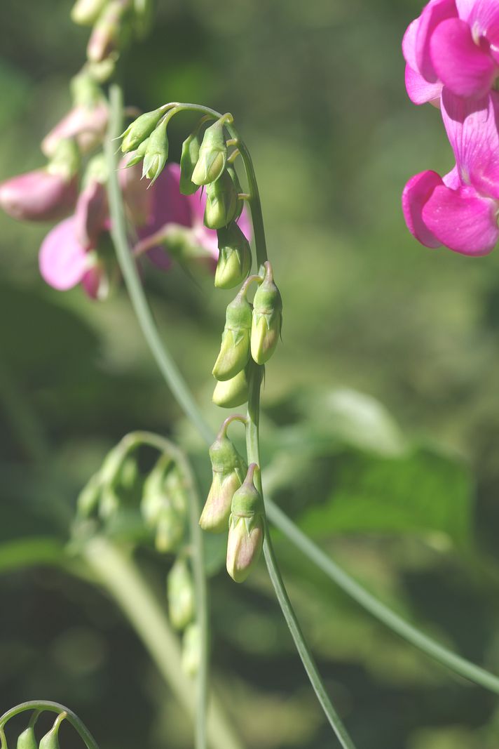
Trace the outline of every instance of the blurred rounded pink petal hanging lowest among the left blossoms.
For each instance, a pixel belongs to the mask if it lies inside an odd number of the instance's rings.
[[[82,280],[88,269],[88,257],[76,240],[74,216],[64,219],[49,231],[38,259],[43,279],[59,291],[73,288]]]

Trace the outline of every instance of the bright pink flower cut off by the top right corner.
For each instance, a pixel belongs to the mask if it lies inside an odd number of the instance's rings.
[[[445,86],[459,97],[486,96],[499,76],[497,0],[430,0],[405,31],[405,86],[415,104]]]

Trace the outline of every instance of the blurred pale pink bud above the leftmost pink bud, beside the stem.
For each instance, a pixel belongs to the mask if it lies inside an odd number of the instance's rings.
[[[67,138],[75,138],[79,150],[86,154],[102,142],[107,124],[108,107],[105,102],[74,106],[43,139],[43,154],[52,158],[61,140]]]

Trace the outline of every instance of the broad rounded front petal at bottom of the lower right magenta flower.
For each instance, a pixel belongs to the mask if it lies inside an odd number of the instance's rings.
[[[486,255],[499,239],[498,204],[481,198],[473,187],[435,187],[423,207],[423,221],[449,249]]]

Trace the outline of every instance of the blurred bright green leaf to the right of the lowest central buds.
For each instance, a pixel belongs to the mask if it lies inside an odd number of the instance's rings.
[[[310,536],[437,532],[469,542],[473,482],[462,462],[422,447],[401,458],[343,452],[332,469],[325,502],[301,515]]]

